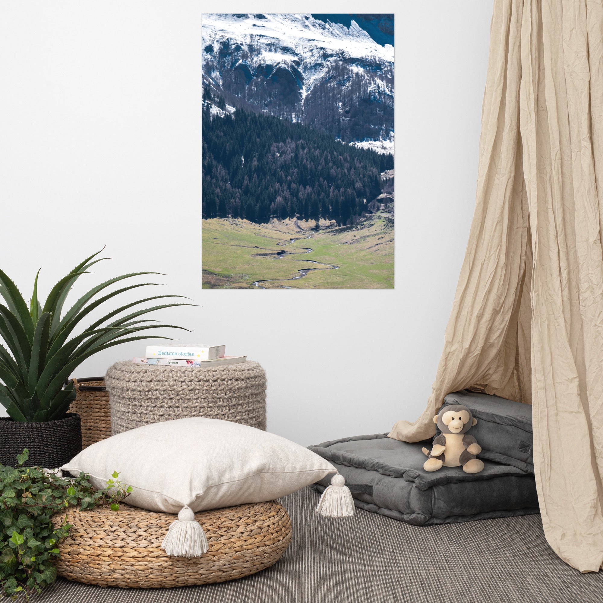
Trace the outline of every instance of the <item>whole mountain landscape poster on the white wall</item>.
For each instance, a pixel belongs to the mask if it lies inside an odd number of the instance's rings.
[[[394,15],[204,14],[204,288],[394,287]]]

